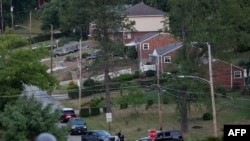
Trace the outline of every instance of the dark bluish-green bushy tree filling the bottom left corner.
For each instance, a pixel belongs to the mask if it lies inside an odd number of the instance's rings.
[[[0,113],[1,140],[34,141],[40,133],[49,132],[58,141],[67,141],[67,130],[56,123],[60,110],[43,105],[34,97],[20,96],[16,104],[7,104]]]

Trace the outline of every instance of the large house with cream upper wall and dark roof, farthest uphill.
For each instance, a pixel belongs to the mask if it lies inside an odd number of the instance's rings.
[[[126,9],[127,18],[129,21],[135,21],[134,28],[136,31],[123,32],[123,42],[129,43],[137,36],[145,35],[149,32],[165,31],[163,20],[165,12],[150,7],[143,2],[140,2]]]

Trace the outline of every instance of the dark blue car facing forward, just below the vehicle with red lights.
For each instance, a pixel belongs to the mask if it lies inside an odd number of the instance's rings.
[[[67,123],[70,135],[82,135],[87,131],[86,124],[81,118],[70,118]]]

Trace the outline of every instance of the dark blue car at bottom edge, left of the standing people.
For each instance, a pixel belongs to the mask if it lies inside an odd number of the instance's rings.
[[[82,141],[118,141],[117,136],[106,130],[88,130],[82,134]]]

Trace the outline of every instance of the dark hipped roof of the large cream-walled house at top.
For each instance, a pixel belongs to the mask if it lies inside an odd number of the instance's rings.
[[[153,7],[150,7],[143,2],[140,2],[125,11],[128,16],[156,16],[156,15],[165,15],[165,12],[155,9]]]

